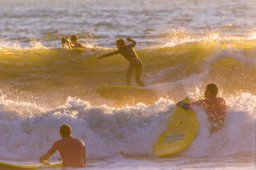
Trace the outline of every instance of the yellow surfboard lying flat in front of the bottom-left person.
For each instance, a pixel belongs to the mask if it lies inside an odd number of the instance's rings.
[[[30,170],[41,169],[43,167],[62,167],[61,162],[44,164],[19,164],[0,161],[0,170]]]

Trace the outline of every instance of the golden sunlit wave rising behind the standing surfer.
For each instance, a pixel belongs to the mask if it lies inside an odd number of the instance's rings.
[[[143,61],[142,80],[158,97],[185,97],[191,86],[204,88],[215,82],[224,95],[256,94],[253,84],[256,54],[253,40],[187,42],[167,48],[137,48]],[[239,48],[238,48],[239,47]],[[101,103],[96,87],[124,85],[129,63],[120,55],[96,59],[115,49],[95,48],[84,54],[62,48],[3,48],[0,54],[0,85],[6,94],[38,96],[60,105],[67,96],[77,96],[92,105]],[[132,84],[136,82],[132,80]],[[92,97],[94,96],[94,97]],[[178,97],[182,96],[182,97]],[[20,96],[21,97],[21,96]],[[61,99],[61,101],[59,101]],[[27,101],[27,100],[26,100]],[[32,102],[32,100],[29,100]],[[142,100],[142,102],[144,102]],[[44,102],[45,103],[45,102]]]

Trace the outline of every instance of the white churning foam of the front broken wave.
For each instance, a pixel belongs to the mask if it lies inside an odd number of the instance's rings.
[[[256,97],[241,94],[227,99],[227,104],[226,126],[212,135],[207,130],[207,116],[203,111],[197,111],[201,127],[182,156],[252,154]],[[30,113],[35,111],[35,105],[17,105],[20,112],[14,101],[1,101],[1,158],[37,159],[60,139],[59,127],[63,123],[73,127],[74,137],[84,140],[89,159],[120,154],[153,156],[154,143],[165,129],[167,116],[175,108],[170,99],[160,99],[154,105],[112,108],[108,105],[91,106],[89,102],[71,97],[65,105],[51,110],[40,108],[33,114]],[[57,154],[54,156],[58,157]]]

